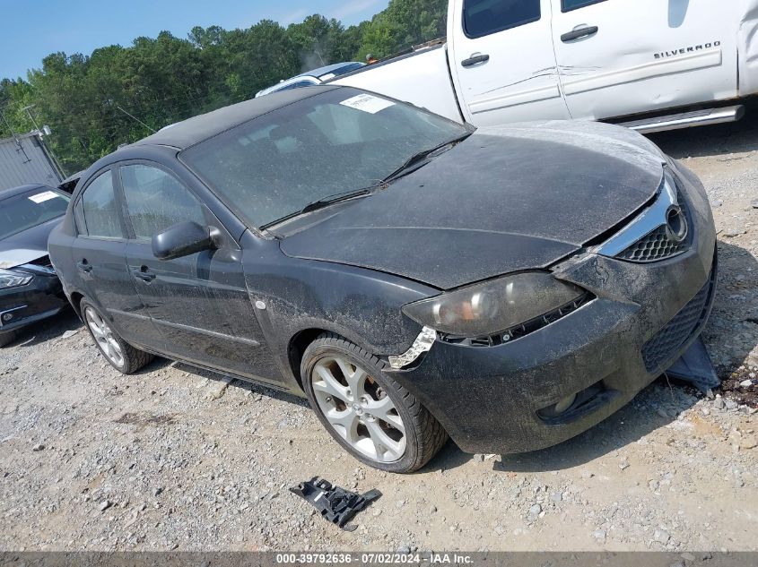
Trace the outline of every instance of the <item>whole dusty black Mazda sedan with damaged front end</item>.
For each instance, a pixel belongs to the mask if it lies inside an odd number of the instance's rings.
[[[702,185],[637,133],[475,131],[348,88],[173,125],[82,177],[49,251],[123,373],[152,354],[305,394],[363,462],[562,442],[698,337]]]

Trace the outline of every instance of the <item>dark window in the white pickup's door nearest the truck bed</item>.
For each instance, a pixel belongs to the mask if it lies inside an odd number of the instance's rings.
[[[537,21],[539,4],[540,0],[465,0],[463,30],[468,38],[481,38]]]

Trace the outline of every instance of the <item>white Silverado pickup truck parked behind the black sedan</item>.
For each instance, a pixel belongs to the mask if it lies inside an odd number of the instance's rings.
[[[758,92],[758,0],[449,0],[447,33],[335,83],[477,126],[640,132],[737,120]]]

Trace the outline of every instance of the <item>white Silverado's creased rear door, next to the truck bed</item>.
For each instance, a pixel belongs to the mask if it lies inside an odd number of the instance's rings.
[[[466,119],[477,126],[568,118],[550,0],[458,0],[449,64]]]

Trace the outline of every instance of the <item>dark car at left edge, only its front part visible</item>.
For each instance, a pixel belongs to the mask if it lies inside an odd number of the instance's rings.
[[[0,190],[0,347],[16,331],[68,305],[48,256],[48,236],[69,195],[48,185]]]

